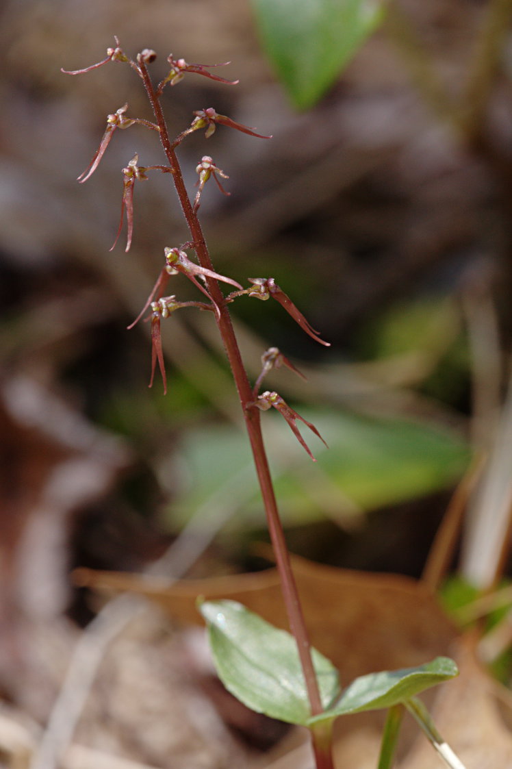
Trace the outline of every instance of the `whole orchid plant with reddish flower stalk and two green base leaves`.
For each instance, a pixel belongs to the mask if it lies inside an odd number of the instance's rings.
[[[168,75],[158,85],[154,85],[148,72],[148,65],[155,61],[155,52],[145,48],[135,59],[132,59],[123,51],[118,38],[115,38],[115,43],[115,48],[108,48],[106,58],[100,62],[83,69],[63,70],[63,72],[69,75],[79,75],[91,72],[110,62],[128,64],[141,78],[155,122],[148,122],[141,118],[128,118],[125,114],[128,109],[126,104],[108,115],[107,128],[101,138],[99,148],[88,168],[78,177],[78,181],[84,182],[91,178],[118,128],[126,129],[134,125],[141,125],[158,133],[165,152],[165,165],[138,165],[138,155],[135,155],[122,169],[121,218],[112,248],[118,241],[125,218],[127,220],[125,250],[129,251],[131,247],[134,232],[135,182],[146,181],[148,179],[147,172],[150,170],[158,170],[170,175],[191,239],[181,246],[165,248],[165,265],[161,268],[141,313],[128,328],[133,328],[146,311],[151,308],[146,318],[148,321],[151,320],[151,378],[149,386],[151,387],[153,384],[158,363],[166,392],[167,377],[161,343],[161,321],[167,320],[175,311],[185,307],[211,311],[214,321],[218,325],[238,391],[238,399],[244,415],[254,457],[254,466],[261,488],[261,497],[267,516],[274,556],[281,578],[284,605],[293,636],[292,639],[288,634],[282,634],[282,631],[270,628],[261,618],[244,611],[244,608],[240,607],[239,604],[232,605],[228,602],[203,604],[201,611],[208,623],[219,675],[241,701],[255,710],[281,717],[284,721],[307,726],[311,731],[317,769],[333,769],[334,767],[331,755],[334,719],[343,714],[371,710],[377,707],[386,707],[390,710],[389,726],[384,731],[380,769],[391,767],[393,755],[391,747],[394,744],[397,724],[404,707],[407,707],[414,714],[445,761],[451,761],[450,766],[458,766],[460,769],[460,762],[456,763],[455,757],[450,754],[449,748],[431,724],[430,717],[424,711],[421,703],[416,700],[416,694],[420,691],[457,675],[457,667],[453,661],[439,657],[437,660],[417,668],[407,668],[391,673],[384,671],[381,674],[372,674],[370,677],[357,678],[351,686],[341,691],[334,666],[317,651],[311,649],[308,640],[261,434],[261,412],[275,408],[313,460],[314,456],[302,438],[297,422],[301,421],[305,424],[321,441],[324,439],[314,424],[301,417],[298,411],[291,408],[278,392],[264,391],[260,393],[264,376],[272,368],[281,368],[284,365],[302,376],[300,371],[278,348],[271,347],[264,352],[261,359],[261,374],[251,386],[242,362],[238,341],[234,335],[229,306],[242,295],[263,301],[272,297],[291,315],[291,318],[298,323],[306,335],[326,347],[329,346],[329,342],[320,338],[319,332],[311,326],[291,298],[275,283],[274,278],[248,278],[251,285],[248,288],[242,288],[237,281],[220,275],[214,270],[198,219],[198,209],[205,185],[211,177],[214,178],[225,195],[229,194],[224,190],[218,178],[220,176],[223,179],[228,179],[228,175],[215,165],[210,155],[203,155],[196,167],[199,177],[198,191],[192,202],[188,197],[181,165],[176,155],[177,148],[188,135],[205,128],[206,138],[209,138],[217,125],[234,128],[246,135],[258,138],[271,137],[258,134],[253,128],[242,125],[225,115],[219,115],[214,108],[209,107],[194,112],[191,125],[174,140],[171,140],[161,106],[161,95],[167,85],[177,85],[188,74],[201,75],[228,85],[235,85],[238,81],[228,81],[218,75],[213,75],[209,69],[215,65],[188,64],[183,58],[174,58],[173,55],[169,55],[167,59],[170,65]],[[195,258],[191,258],[186,249],[194,251]],[[185,275],[207,301],[204,299],[201,301],[179,301],[175,294],[164,296],[169,278],[178,273]],[[236,290],[229,295],[224,295],[221,291],[221,283],[231,285]]]

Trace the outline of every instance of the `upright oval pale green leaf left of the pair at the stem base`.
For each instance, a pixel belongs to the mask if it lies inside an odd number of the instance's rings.
[[[236,601],[204,601],[215,667],[222,683],[241,702],[290,724],[311,716],[294,638]],[[340,693],[337,670],[313,650],[321,700],[328,707]]]

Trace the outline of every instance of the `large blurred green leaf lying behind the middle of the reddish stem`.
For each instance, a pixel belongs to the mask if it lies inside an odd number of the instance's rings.
[[[452,484],[470,458],[467,444],[454,431],[427,422],[376,419],[294,405],[329,444],[307,435],[318,465],[311,462],[277,413],[263,414],[262,424],[281,516],[286,526],[324,518],[347,498],[364,511],[421,497]],[[197,511],[214,514],[219,505],[238,504],[234,527],[264,525],[264,513],[250,449],[243,434],[223,425],[188,431],[178,447],[181,494],[172,505],[171,524],[179,528]]]

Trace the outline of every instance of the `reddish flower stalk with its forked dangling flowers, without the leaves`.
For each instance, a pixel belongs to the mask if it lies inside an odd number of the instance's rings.
[[[72,71],[65,71],[70,75],[78,75],[91,71],[101,67],[108,62],[125,62],[131,66],[132,69],[137,72],[141,77],[145,87],[145,91],[148,95],[149,102],[153,114],[155,116],[155,123],[151,123],[145,120],[139,120],[137,118],[127,118],[125,112],[128,105],[124,105],[119,108],[117,112],[112,115],[108,115],[107,128],[105,134],[101,139],[100,146],[93,156],[88,168],[85,169],[83,174],[80,175],[79,181],[86,181],[95,169],[98,168],[98,164],[101,158],[105,154],[105,151],[111,141],[112,135],[117,128],[129,128],[134,123],[141,123],[146,128],[151,128],[158,131],[161,145],[164,149],[168,165],[165,166],[138,166],[138,157],[135,155],[127,165],[123,168],[123,197],[121,201],[121,220],[119,222],[118,234],[116,236],[115,243],[121,233],[121,228],[126,215],[128,237],[126,251],[130,248],[131,238],[133,233],[133,190],[136,180],[144,180],[146,178],[145,171],[150,168],[158,168],[161,171],[171,174],[171,178],[175,185],[175,191],[178,195],[178,200],[181,205],[181,209],[185,216],[185,221],[188,225],[188,230],[191,235],[191,240],[188,244],[185,244],[181,248],[166,248],[165,249],[165,266],[162,268],[160,275],[157,278],[155,286],[153,287],[148,300],[145,303],[145,307],[138,315],[138,318],[128,327],[132,328],[145,314],[145,311],[151,305],[151,315],[147,318],[151,318],[151,381],[150,386],[153,383],[155,377],[155,370],[158,364],[158,368],[161,371],[161,376],[164,382],[164,389],[167,390],[167,381],[165,375],[165,363],[161,345],[161,318],[167,318],[171,313],[181,307],[195,306],[201,309],[208,309],[214,312],[214,318],[218,325],[224,349],[228,356],[229,364],[231,365],[231,371],[233,373],[234,382],[238,391],[238,398],[241,404],[241,409],[244,414],[245,426],[248,431],[248,438],[251,444],[251,450],[254,458],[254,465],[256,473],[258,475],[258,481],[261,489],[261,497],[263,499],[264,510],[268,522],[268,531],[271,537],[272,546],[274,549],[274,556],[278,568],[278,573],[281,578],[281,591],[284,598],[284,605],[288,614],[288,622],[290,624],[291,633],[293,634],[298,647],[298,657],[301,662],[301,669],[304,674],[304,683],[306,691],[308,692],[308,699],[310,703],[311,715],[321,714],[323,711],[321,696],[318,687],[317,677],[314,671],[314,665],[311,657],[311,646],[308,639],[308,631],[305,626],[304,616],[302,614],[301,604],[298,596],[297,585],[294,580],[294,575],[291,570],[291,561],[288,554],[288,548],[284,538],[284,531],[279,517],[278,505],[274,494],[274,487],[271,479],[271,472],[268,466],[268,458],[264,448],[263,437],[261,434],[261,409],[277,408],[278,411],[284,416],[294,434],[297,435],[298,440],[304,446],[311,458],[313,455],[309,451],[308,446],[305,444],[301,434],[298,431],[296,421],[299,419],[304,422],[318,437],[320,434],[314,428],[312,424],[304,420],[296,411],[286,404],[281,396],[277,393],[266,392],[261,396],[258,396],[258,388],[261,383],[261,379],[267,373],[270,368],[278,368],[280,365],[287,365],[294,371],[297,369],[291,365],[287,358],[276,349],[271,348],[267,351],[266,357],[262,360],[263,370],[260,378],[254,388],[251,388],[251,384],[248,380],[248,375],[245,371],[244,364],[241,360],[241,353],[238,348],[238,342],[234,335],[233,325],[231,324],[231,317],[228,311],[228,304],[233,301],[233,298],[238,295],[249,294],[251,296],[257,296],[261,299],[267,299],[273,296],[279,303],[288,311],[288,313],[298,322],[298,325],[303,328],[304,331],[316,341],[319,341],[322,345],[328,345],[327,342],[321,340],[318,337],[318,332],[315,331],[311,325],[306,321],[304,315],[302,315],[298,309],[294,306],[291,299],[288,298],[278,285],[275,285],[273,278],[252,278],[250,280],[251,287],[248,289],[241,288],[241,285],[237,281],[231,280],[231,278],[225,278],[223,275],[219,275],[214,271],[214,267],[211,262],[207,245],[204,241],[204,235],[201,229],[201,224],[198,220],[197,211],[199,208],[201,192],[203,191],[206,182],[213,176],[218,187],[224,195],[229,193],[224,190],[219,181],[221,178],[228,178],[216,165],[209,155],[204,155],[198,164],[196,171],[199,175],[198,192],[195,196],[194,203],[191,203],[188,193],[185,188],[185,182],[181,173],[181,167],[176,156],[176,148],[181,141],[193,131],[199,128],[206,129],[207,138],[211,136],[217,125],[225,125],[228,128],[236,128],[238,131],[242,131],[245,134],[258,136],[259,138],[270,138],[264,135],[256,133],[253,128],[250,128],[241,123],[234,122],[231,118],[225,115],[219,115],[215,112],[214,108],[207,108],[198,112],[194,112],[194,121],[191,126],[183,131],[175,141],[171,141],[168,135],[168,128],[165,122],[165,117],[162,112],[160,97],[168,83],[176,85],[184,77],[185,73],[194,73],[197,75],[203,75],[204,77],[211,78],[218,82],[228,83],[229,85],[235,85],[238,81],[228,81],[225,78],[221,78],[218,75],[213,75],[208,72],[208,69],[217,65],[198,65],[188,64],[185,59],[175,59],[172,55],[168,56],[168,62],[171,66],[170,71],[166,78],[162,80],[155,88],[151,78],[148,74],[147,65],[155,61],[156,54],[151,49],[145,48],[144,51],[137,55],[136,61],[128,58],[125,52],[122,51],[118,38],[115,38],[116,47],[108,48],[107,57],[101,62],[90,67]],[[228,62],[226,62],[228,63]],[[115,245],[115,244],[114,244]],[[188,255],[183,250],[186,247],[194,248],[196,256],[198,258],[198,264],[188,258]],[[176,301],[175,295],[164,297],[165,287],[170,275],[174,275],[177,272],[184,274],[189,280],[191,280],[197,288],[208,298],[209,303],[204,302],[179,302]],[[201,282],[198,281],[201,278]],[[237,288],[228,297],[224,297],[221,292],[218,281],[224,281]],[[204,285],[203,285],[204,284]],[[300,375],[300,372],[297,371]],[[258,407],[258,408],[257,408]],[[323,440],[323,439],[322,439]],[[322,735],[320,744],[317,744],[314,739],[314,751],[318,761],[318,769],[331,769],[331,757],[330,757],[330,744],[329,740],[324,742],[324,736]]]

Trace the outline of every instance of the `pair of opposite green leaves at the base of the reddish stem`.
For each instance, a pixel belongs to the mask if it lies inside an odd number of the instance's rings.
[[[358,677],[341,693],[334,665],[313,650],[325,711],[311,717],[297,647],[289,633],[236,601],[206,601],[200,611],[208,624],[218,675],[228,691],[252,710],[291,724],[312,726],[344,714],[391,707],[458,672],[453,661],[437,657],[420,667]]]

